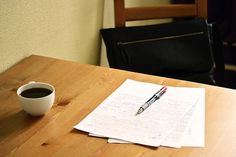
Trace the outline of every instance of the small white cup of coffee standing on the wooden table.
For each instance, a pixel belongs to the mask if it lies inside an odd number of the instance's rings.
[[[33,92],[36,93],[34,95],[40,94],[39,89],[41,90],[41,95],[32,97]],[[48,93],[42,91],[47,91]],[[29,95],[30,93],[31,95]],[[48,83],[32,81],[19,87],[17,89],[17,95],[26,113],[32,116],[40,116],[51,109],[55,99],[55,88]]]

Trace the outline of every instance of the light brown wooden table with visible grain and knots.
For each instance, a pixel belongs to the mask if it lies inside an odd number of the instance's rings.
[[[205,88],[206,146],[174,149],[109,144],[73,129],[127,78]],[[27,115],[17,101],[17,88],[32,80],[56,88],[54,106],[42,117]],[[234,157],[236,91],[33,55],[0,75],[0,156]]]

